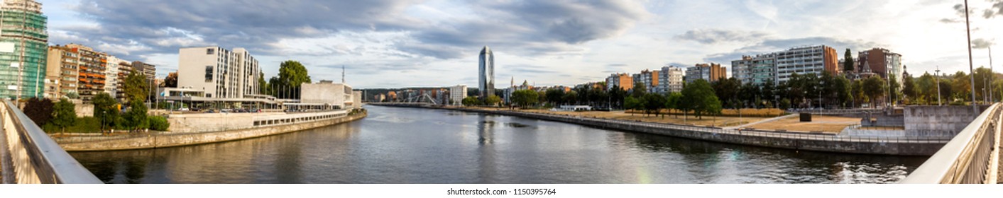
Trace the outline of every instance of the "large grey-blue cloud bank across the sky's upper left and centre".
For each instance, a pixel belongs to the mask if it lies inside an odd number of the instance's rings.
[[[633,1],[475,1],[459,4],[472,16],[435,23],[414,14],[414,0],[210,2],[160,0],[81,0],[73,7],[97,24],[63,27],[52,43],[92,38],[90,46],[142,49],[130,54],[177,53],[178,48],[220,45],[244,47],[259,55],[288,56],[281,43],[290,39],[337,37],[345,32],[404,33],[393,50],[414,56],[456,59],[482,45],[516,54],[580,51],[575,45],[618,36],[650,15]],[[455,3],[455,2],[453,2]],[[144,9],[135,9],[144,8]],[[97,39],[97,38],[109,39]],[[330,48],[352,54],[355,49]],[[322,55],[326,52],[311,52]]]

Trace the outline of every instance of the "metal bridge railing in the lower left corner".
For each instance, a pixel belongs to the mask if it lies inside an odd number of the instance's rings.
[[[10,101],[0,102],[0,177],[2,183],[99,184],[34,121]]]

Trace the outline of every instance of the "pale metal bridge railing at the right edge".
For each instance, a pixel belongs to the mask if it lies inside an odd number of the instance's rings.
[[[940,151],[909,174],[902,183],[996,183],[1001,103],[983,111]],[[996,153],[996,154],[994,154]]]

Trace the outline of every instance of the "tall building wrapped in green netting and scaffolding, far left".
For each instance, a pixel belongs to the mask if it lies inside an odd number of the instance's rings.
[[[48,19],[34,0],[4,0],[0,8],[0,97],[42,97]]]

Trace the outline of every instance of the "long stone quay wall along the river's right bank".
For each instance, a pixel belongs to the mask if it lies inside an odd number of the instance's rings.
[[[783,148],[783,149],[807,150],[807,151],[878,154],[878,155],[930,156],[936,153],[938,150],[940,150],[940,148],[943,147],[945,144],[944,142],[924,143],[919,141],[915,142],[841,141],[841,140],[835,140],[837,139],[835,137],[833,137],[830,140],[793,138],[793,137],[767,137],[767,136],[739,135],[739,134],[729,134],[729,133],[714,133],[713,131],[723,132],[723,129],[713,128],[713,127],[688,126],[688,128],[693,128],[695,130],[677,130],[677,129],[665,129],[660,127],[645,126],[643,124],[631,124],[624,122],[613,122],[613,121],[603,121],[594,119],[586,120],[586,119],[578,119],[565,116],[554,116],[554,115],[536,114],[536,113],[485,111],[485,110],[464,109],[464,108],[438,108],[438,107],[423,106],[423,105],[397,105],[397,104],[378,104],[378,105],[490,113],[490,114],[518,116],[518,117],[533,118],[533,119],[540,119],[547,121],[573,123],[585,126],[614,129],[614,130],[621,130],[628,132],[665,135],[665,136],[712,141],[712,142]]]

